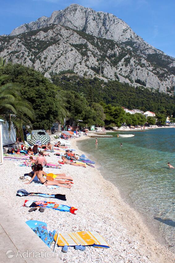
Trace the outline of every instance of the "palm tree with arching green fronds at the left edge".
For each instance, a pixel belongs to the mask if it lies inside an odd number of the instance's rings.
[[[6,60],[0,57],[0,69],[5,65]],[[9,130],[11,125],[18,136],[23,136],[23,127],[32,127],[31,120],[34,119],[34,110],[31,104],[20,95],[20,87],[10,83],[8,75],[0,75],[0,119],[7,121]]]

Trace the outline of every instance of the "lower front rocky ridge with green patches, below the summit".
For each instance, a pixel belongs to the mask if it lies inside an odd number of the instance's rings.
[[[17,36],[0,37],[0,56],[34,67],[46,77],[61,72],[118,78],[134,86],[144,85],[166,92],[173,87],[173,75],[168,70],[154,67],[145,58],[116,41],[94,37],[60,25],[26,32]],[[173,66],[173,64],[172,64]],[[161,80],[159,74],[166,73]]]

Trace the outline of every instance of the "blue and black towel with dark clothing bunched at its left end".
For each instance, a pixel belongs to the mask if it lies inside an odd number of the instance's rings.
[[[33,193],[33,192],[29,193],[25,189],[19,189],[17,191],[16,196],[42,196],[42,197],[56,198],[56,199],[60,199],[60,200],[66,201],[66,196],[65,195],[61,195],[61,194],[52,195],[52,194]]]

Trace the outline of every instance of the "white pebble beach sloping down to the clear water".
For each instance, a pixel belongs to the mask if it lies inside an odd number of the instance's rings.
[[[77,148],[77,140],[88,140],[87,137],[71,139],[71,148],[81,155]],[[53,141],[51,141],[53,143]],[[56,150],[55,150],[56,152]],[[46,157],[49,163],[56,163],[60,158],[54,153]],[[93,167],[77,167],[62,165],[61,169],[47,168],[50,173],[63,173],[73,177],[73,187],[47,189],[32,182],[26,185],[19,180],[20,176],[29,173],[31,167],[20,167],[14,161],[4,160],[0,166],[1,190],[0,195],[9,206],[24,220],[39,220],[47,223],[48,230],[56,232],[97,231],[109,244],[110,248],[86,247],[85,251],[68,248],[67,253],[60,252],[60,258],[70,263],[173,263],[175,255],[165,246],[156,242],[150,230],[145,226],[139,213],[126,204],[118,189],[105,180],[100,172]],[[19,197],[16,191],[24,188],[28,192],[42,192],[49,194],[65,194],[66,201],[50,198],[49,201],[62,205],[74,206],[76,214],[45,209],[40,213],[38,209],[29,213],[23,207],[24,201],[44,201],[46,198]],[[47,200],[48,201],[48,200]],[[13,222],[12,222],[13,224]],[[52,244],[52,248],[54,246]],[[32,250],[33,248],[31,248]]]

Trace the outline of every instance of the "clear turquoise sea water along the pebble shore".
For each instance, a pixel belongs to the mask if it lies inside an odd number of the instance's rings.
[[[175,128],[135,131],[131,138],[98,138],[98,146],[95,138],[78,143],[150,227],[158,226],[159,235],[174,250],[175,169],[167,162],[175,167]]]

